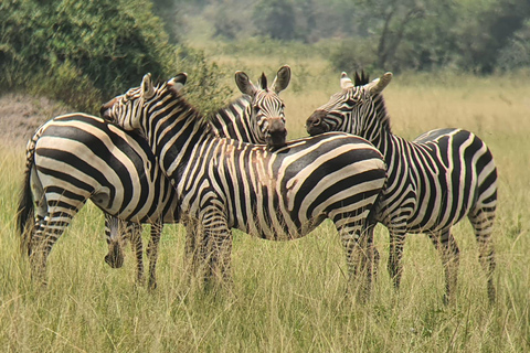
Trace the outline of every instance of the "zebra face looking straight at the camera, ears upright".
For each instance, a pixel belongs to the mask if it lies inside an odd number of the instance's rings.
[[[285,104],[278,94],[287,88],[290,81],[290,67],[282,66],[267,87],[267,77],[262,74],[258,85],[254,85],[244,72],[235,73],[237,88],[252,98],[251,129],[257,141],[272,147],[282,147],[287,138],[285,128]]]

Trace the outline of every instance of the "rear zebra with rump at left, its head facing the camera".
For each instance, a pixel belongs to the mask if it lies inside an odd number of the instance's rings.
[[[242,83],[239,84],[239,86],[245,89],[245,93],[248,93],[251,96],[244,96],[227,107],[220,109],[211,119],[212,122],[215,122],[212,128],[213,131],[218,135],[232,135],[239,138],[255,139],[256,142],[266,142],[267,139],[269,139],[271,146],[273,146],[273,143],[282,145],[282,139],[285,141],[285,126],[283,124],[276,124],[275,129],[272,130],[268,127],[273,124],[268,121],[284,119],[284,103],[278,97],[278,93],[287,87],[290,79],[290,68],[287,65],[280,67],[271,88],[267,87],[266,76],[264,74],[262,74],[259,81],[261,88],[255,86],[243,72],[237,72],[235,77],[236,82]],[[241,129],[241,132],[237,129]],[[169,181],[160,174],[158,162],[147,147],[146,141],[134,136],[131,137],[127,132],[116,130],[115,127],[108,126],[108,122],[104,122],[102,119],[81,114],[57,117],[38,129],[26,149],[26,181],[23,197],[19,204],[19,229],[21,234],[30,237],[33,233],[42,236],[42,233],[52,231],[47,227],[47,224],[55,222],[53,221],[53,215],[49,213],[53,213],[53,210],[57,207],[41,201],[36,216],[38,220],[34,223],[36,224],[34,231],[30,229],[29,232],[24,232],[28,227],[26,223],[32,218],[34,213],[30,183],[46,183],[45,188],[34,188],[36,189],[35,194],[38,200],[44,197],[45,201],[55,202],[54,200],[57,199],[57,191],[55,189],[57,188],[61,190],[59,195],[70,193],[71,197],[74,197],[70,200],[70,204],[67,205],[70,208],[67,223],[70,223],[86,200],[92,199],[95,201],[97,200],[98,191],[112,190],[113,196],[107,195],[107,199],[112,200],[107,200],[103,206],[99,204],[99,207],[105,211],[105,234],[109,246],[105,261],[112,267],[120,267],[124,261],[123,246],[130,238],[137,258],[137,281],[141,282],[144,276],[141,226],[139,223],[124,221],[118,217],[125,220],[136,217],[135,220],[140,220],[140,222],[151,223],[151,240],[148,246],[148,258],[150,260],[149,288],[155,288],[155,268],[158,242],[162,229],[161,222],[178,222],[178,216],[174,215],[177,197]],[[132,142],[128,143],[129,139],[132,139]],[[41,146],[42,148],[40,148]],[[100,146],[105,148],[100,148]],[[97,148],[94,150],[93,147]],[[87,165],[91,161],[106,160],[107,157],[100,156],[103,152],[108,157],[113,157],[115,163],[123,162],[124,164],[134,164],[136,172],[124,172],[124,168],[110,171],[109,169],[114,169],[114,164],[112,163],[106,165],[100,163],[103,165],[98,165],[98,168],[84,168],[84,170],[76,170],[76,167],[67,165],[73,161],[72,156],[76,156],[76,160],[83,162],[82,164],[80,163],[80,165]],[[44,163],[40,163],[39,160],[35,161],[35,153],[38,156],[45,154],[47,162],[53,161],[56,165],[67,165],[72,172],[70,175],[64,175],[59,170],[47,168]],[[109,181],[102,176],[107,174],[114,175],[116,173],[119,181],[116,181],[116,178],[114,181]],[[145,175],[149,178],[145,178]],[[73,179],[76,179],[76,181],[74,182]],[[84,186],[86,190],[80,194],[78,183],[83,181],[85,182]],[[127,184],[129,184],[129,186],[125,188]],[[54,190],[56,195],[47,195],[47,190]],[[155,191],[158,191],[162,195],[161,197],[165,200],[165,204],[171,204],[171,207],[158,210],[160,204],[156,203],[157,200],[146,197],[146,194],[153,193]],[[130,212],[130,210],[128,213],[124,213],[120,208],[120,211],[116,213],[113,211],[118,206],[117,204],[113,204],[113,202],[115,202],[115,195],[128,195],[131,199],[137,196],[137,200],[144,202],[142,210],[149,211],[147,214],[136,214],[135,212]],[[95,203],[98,204],[96,201]],[[42,220],[44,220],[46,215],[50,220],[43,223]],[[63,233],[67,223],[56,227],[55,235],[53,235],[53,238],[50,238],[52,245]],[[23,247],[31,255],[31,239],[23,238],[22,243]]]

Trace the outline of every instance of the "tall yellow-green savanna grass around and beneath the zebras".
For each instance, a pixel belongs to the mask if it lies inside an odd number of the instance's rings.
[[[272,78],[282,64],[289,64],[294,76],[282,96],[289,137],[296,138],[306,135],[306,117],[339,89],[340,73],[303,56],[219,54],[215,60],[227,72],[244,69],[252,78],[262,71]],[[494,304],[487,300],[467,220],[454,228],[460,247],[456,304],[442,301],[442,264],[424,235],[409,236],[402,287],[393,290],[386,272],[389,239],[381,226],[375,239],[381,254],[379,278],[370,300],[359,303],[346,296],[346,261],[328,223],[288,243],[234,232],[233,286],[218,296],[189,289],[184,231],[167,226],[158,288],[149,292],[135,286],[130,249],[124,268],[112,269],[104,263],[103,215],[92,204],[53,248],[49,285],[41,288],[31,281],[14,227],[23,148],[3,147],[0,347],[4,352],[528,352],[529,77],[526,73],[480,78],[400,74],[384,92],[395,133],[412,139],[434,128],[462,127],[489,145],[499,172]],[[230,74],[227,81],[232,79]]]

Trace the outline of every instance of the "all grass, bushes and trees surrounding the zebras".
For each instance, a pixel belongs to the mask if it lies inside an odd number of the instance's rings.
[[[434,128],[462,127],[480,136],[494,152],[500,197],[494,235],[498,300],[487,302],[467,221],[455,227],[462,260],[454,307],[442,303],[442,264],[423,235],[409,236],[402,289],[393,291],[385,270],[388,235],[380,226],[380,276],[370,301],[354,302],[344,295],[343,254],[328,223],[287,243],[234,232],[234,284],[230,293],[218,297],[190,291],[183,229],[167,226],[159,287],[148,292],[134,285],[130,250],[123,269],[104,263],[103,215],[92,204],[57,242],[50,256],[49,286],[39,288],[19,254],[14,232],[24,151],[0,145],[2,351],[530,351],[530,33],[523,1],[378,0],[371,1],[371,9],[364,1],[340,0],[166,1],[156,1],[153,8],[140,0],[94,1],[99,7],[73,0],[0,2],[0,86],[60,97],[75,109],[95,111],[102,101],[138,85],[146,72],[167,79],[187,71],[190,99],[208,110],[235,95],[236,69],[254,78],[262,71],[272,76],[289,64],[293,79],[282,96],[289,138],[296,138],[307,135],[306,117],[339,89],[340,71],[362,66],[372,77],[398,72],[384,93],[395,133],[412,139]],[[294,18],[290,36],[276,38],[264,30],[266,19],[257,21],[274,13],[267,4],[290,6],[293,12],[282,10]],[[61,7],[63,12],[57,11]],[[407,9],[416,10],[407,14]],[[499,36],[492,29],[505,28],[502,14],[510,9],[513,24],[519,23],[516,18],[522,20],[516,31]],[[107,18],[106,11],[115,15]],[[40,19],[40,13],[46,15]],[[403,23],[398,20],[407,18],[395,44]],[[53,23],[64,25],[50,31]],[[223,25],[234,26],[232,36],[223,33]],[[383,33],[390,36],[380,45]],[[115,49],[102,45],[119,35],[126,40]],[[141,45],[148,51],[142,53]],[[380,46],[389,54],[384,65]],[[480,51],[488,55],[474,54]],[[494,64],[487,68],[486,63]]]

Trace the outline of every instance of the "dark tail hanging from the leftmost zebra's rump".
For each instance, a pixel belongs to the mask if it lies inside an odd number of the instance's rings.
[[[20,250],[22,254],[30,254],[31,237],[33,235],[34,218],[34,203],[33,194],[31,192],[30,178],[31,167],[33,164],[33,156],[28,160],[24,180],[22,184],[22,192],[19,199],[19,207],[17,210],[17,228],[20,235]]]

